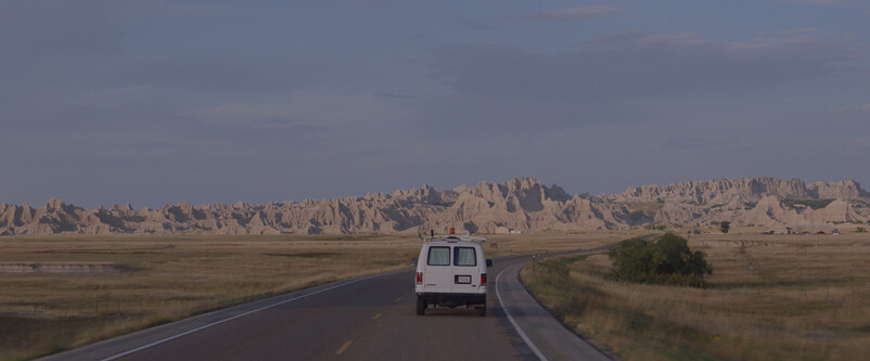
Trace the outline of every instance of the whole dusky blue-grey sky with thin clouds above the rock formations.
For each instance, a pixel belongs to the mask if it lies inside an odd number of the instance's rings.
[[[870,2],[0,2],[0,202],[870,184]]]

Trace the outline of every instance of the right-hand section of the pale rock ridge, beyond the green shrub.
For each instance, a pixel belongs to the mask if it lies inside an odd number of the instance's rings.
[[[634,207],[645,204],[652,208],[647,214],[654,214],[656,223],[734,221],[777,227],[862,223],[870,219],[870,197],[853,180],[806,184],[794,178],[715,179],[628,188],[600,197]],[[655,203],[658,206],[650,206]],[[824,206],[814,209],[809,204]]]

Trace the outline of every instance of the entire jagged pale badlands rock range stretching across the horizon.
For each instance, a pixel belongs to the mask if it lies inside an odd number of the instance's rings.
[[[487,233],[627,229],[650,223],[695,227],[716,221],[786,227],[865,223],[870,195],[855,181],[805,184],[798,179],[716,179],[628,188],[619,194],[570,195],[535,178],[479,182],[439,191],[428,185],[393,194],[267,204],[235,203],[157,209],[130,205],[84,209],[52,199],[0,203],[0,234],[279,234],[417,233],[453,227]]]

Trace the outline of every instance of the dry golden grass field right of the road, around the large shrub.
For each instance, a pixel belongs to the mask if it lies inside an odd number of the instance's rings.
[[[706,289],[613,281],[606,254],[522,278],[563,321],[623,360],[870,359],[870,236],[702,235]]]

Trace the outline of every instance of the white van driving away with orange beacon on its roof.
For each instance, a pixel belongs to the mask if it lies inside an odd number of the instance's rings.
[[[424,314],[428,305],[455,308],[465,305],[486,315],[486,259],[479,242],[486,240],[464,235],[427,237],[417,265],[414,292],[417,314]]]

